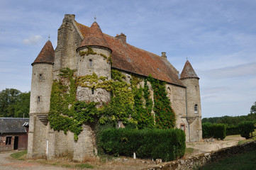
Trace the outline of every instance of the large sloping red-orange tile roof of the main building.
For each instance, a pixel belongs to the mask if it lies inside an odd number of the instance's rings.
[[[87,38],[87,35],[91,36],[89,27],[77,23],[77,28],[79,28],[84,39]],[[155,79],[166,81],[170,84],[176,84],[178,86],[184,86],[182,81],[179,80],[178,75],[169,67],[169,64],[167,63],[168,61],[164,57],[141,50],[138,47],[129,45],[110,35],[103,35],[109,48],[112,50],[111,59],[113,68],[122,69],[146,77],[151,75]]]

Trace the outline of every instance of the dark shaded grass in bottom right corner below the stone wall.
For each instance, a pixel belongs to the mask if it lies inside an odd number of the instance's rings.
[[[233,157],[209,162],[198,170],[250,170],[256,169],[256,151],[237,154]]]

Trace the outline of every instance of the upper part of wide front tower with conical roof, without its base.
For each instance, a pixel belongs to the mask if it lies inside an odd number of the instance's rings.
[[[111,52],[101,28],[95,21],[77,48],[77,77],[96,74],[97,77],[111,79]],[[110,101],[110,92],[100,88],[78,86],[77,100],[106,103]]]

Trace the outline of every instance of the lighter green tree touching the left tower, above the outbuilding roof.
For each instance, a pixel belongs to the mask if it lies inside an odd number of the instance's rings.
[[[29,118],[30,91],[18,95],[15,102],[15,118]]]

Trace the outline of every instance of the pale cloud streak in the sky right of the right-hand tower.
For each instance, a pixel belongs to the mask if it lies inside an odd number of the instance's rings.
[[[201,74],[204,74],[207,77],[213,77],[218,79],[252,76],[256,75],[256,62],[240,64],[234,67],[211,69],[205,72],[201,72]]]

